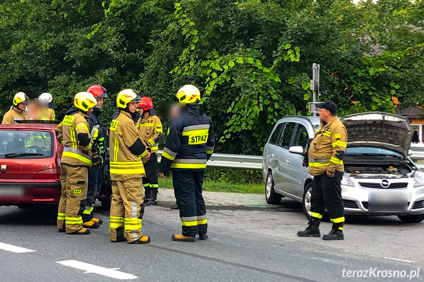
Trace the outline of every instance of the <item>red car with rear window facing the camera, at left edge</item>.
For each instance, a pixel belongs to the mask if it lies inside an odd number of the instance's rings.
[[[0,206],[56,206],[63,147],[57,124],[0,125]]]

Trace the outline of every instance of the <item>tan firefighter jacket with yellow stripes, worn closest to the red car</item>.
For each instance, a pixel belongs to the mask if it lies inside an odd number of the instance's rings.
[[[92,166],[93,154],[90,149],[93,140],[88,131],[88,118],[82,112],[65,115],[57,126],[57,139],[63,145],[61,164],[88,168]]]

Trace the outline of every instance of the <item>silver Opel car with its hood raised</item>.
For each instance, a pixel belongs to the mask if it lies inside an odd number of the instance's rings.
[[[346,214],[396,215],[401,221],[424,220],[424,174],[408,157],[412,128],[395,114],[367,112],[344,116],[348,133],[341,180]],[[287,116],[277,122],[262,156],[265,198],[303,203],[310,217],[313,177],[303,166],[318,117]]]

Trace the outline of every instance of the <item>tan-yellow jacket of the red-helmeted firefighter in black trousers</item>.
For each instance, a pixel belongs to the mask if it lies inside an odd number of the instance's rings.
[[[147,114],[137,122],[140,139],[145,146],[150,148],[151,153],[158,152],[158,142],[162,139],[162,123],[157,116]]]

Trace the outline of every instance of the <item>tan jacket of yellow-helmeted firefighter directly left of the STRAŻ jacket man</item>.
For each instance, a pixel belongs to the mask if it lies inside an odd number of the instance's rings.
[[[124,181],[144,177],[141,158],[147,151],[130,113],[119,111],[112,120],[109,138],[111,179]]]

